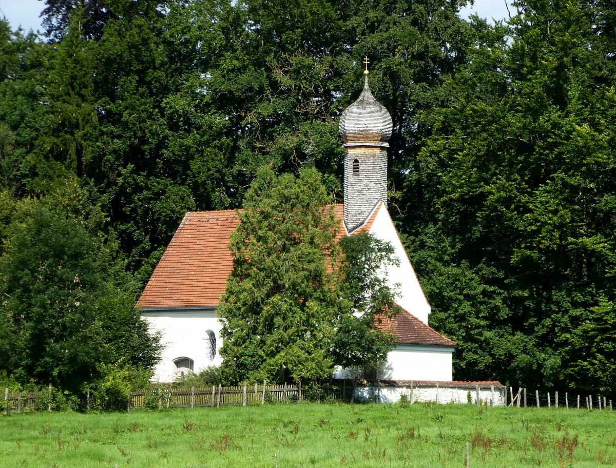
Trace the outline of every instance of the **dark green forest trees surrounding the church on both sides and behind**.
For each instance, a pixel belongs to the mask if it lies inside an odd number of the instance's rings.
[[[495,25],[458,0],[45,3],[44,40],[0,22],[15,379],[76,392],[147,369],[137,294],[184,213],[241,206],[259,167],[314,166],[340,196],[367,56],[390,211],[455,379],[613,388],[612,1],[518,1]]]

